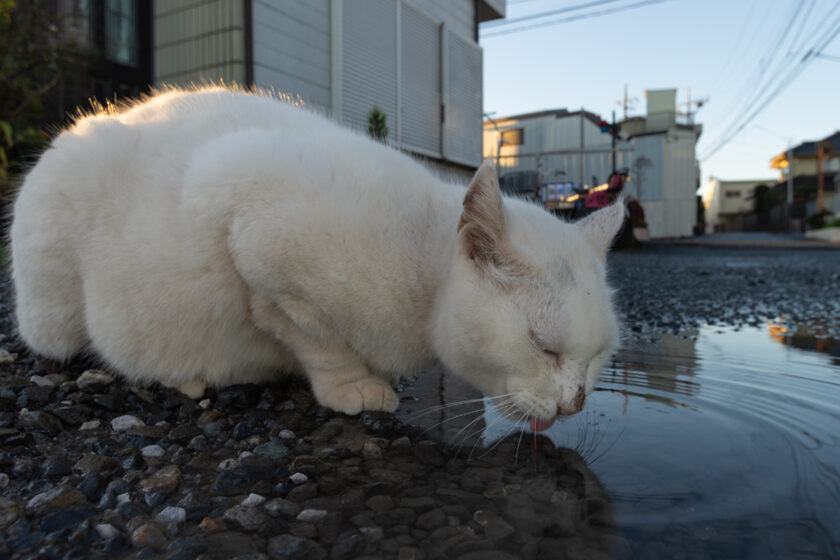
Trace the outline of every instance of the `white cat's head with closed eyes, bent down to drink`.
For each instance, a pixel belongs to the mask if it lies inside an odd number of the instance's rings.
[[[606,253],[623,220],[618,202],[565,223],[503,198],[492,164],[482,165],[457,232],[453,224],[436,308],[444,365],[514,416],[579,412],[618,346]]]

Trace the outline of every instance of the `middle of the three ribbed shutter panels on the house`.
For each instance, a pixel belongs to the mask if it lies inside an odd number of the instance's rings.
[[[440,24],[402,5],[400,132],[404,148],[440,157]]]

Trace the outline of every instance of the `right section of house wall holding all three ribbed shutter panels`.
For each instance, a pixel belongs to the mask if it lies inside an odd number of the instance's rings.
[[[335,1],[341,25],[333,110],[365,130],[377,107],[388,142],[461,165],[481,163],[481,49],[471,0]]]

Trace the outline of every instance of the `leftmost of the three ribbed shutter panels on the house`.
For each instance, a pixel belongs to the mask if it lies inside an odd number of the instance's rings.
[[[358,0],[342,18],[341,115],[367,130],[374,106],[387,115],[388,138],[397,131],[397,5],[393,0]]]

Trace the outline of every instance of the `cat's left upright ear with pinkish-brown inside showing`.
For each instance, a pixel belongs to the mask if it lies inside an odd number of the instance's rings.
[[[521,275],[528,271],[508,242],[502,193],[496,170],[489,159],[478,169],[467,189],[458,233],[464,253],[476,265],[493,267],[508,275]]]

